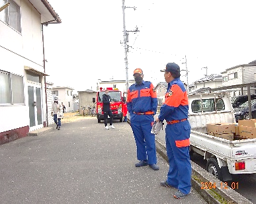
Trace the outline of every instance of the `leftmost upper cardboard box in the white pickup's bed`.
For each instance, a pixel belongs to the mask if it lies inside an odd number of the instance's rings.
[[[235,133],[235,124],[234,123],[212,123],[206,125],[208,133]]]

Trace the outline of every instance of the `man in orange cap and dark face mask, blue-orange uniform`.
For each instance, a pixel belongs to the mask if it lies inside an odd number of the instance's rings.
[[[157,110],[157,95],[153,84],[143,80],[142,69],[134,70],[135,84],[127,93],[127,108],[130,113],[130,125],[137,146],[136,167],[149,165],[153,170],[159,170],[155,150],[155,135],[151,133],[153,115]]]

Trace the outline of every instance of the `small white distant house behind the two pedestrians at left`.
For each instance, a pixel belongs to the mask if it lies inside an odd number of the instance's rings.
[[[66,112],[74,111],[73,88],[68,86],[52,87],[52,96],[58,96],[59,103],[64,104]],[[76,98],[75,98],[76,100]]]

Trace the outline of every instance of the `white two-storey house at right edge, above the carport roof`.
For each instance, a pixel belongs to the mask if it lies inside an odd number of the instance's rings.
[[[248,64],[237,65],[223,71],[222,73],[222,85],[241,85],[246,83],[254,83],[256,81],[256,60],[251,61]],[[255,94],[255,87],[251,88],[251,94]],[[230,96],[238,96],[247,94],[246,90],[235,89],[230,93]]]

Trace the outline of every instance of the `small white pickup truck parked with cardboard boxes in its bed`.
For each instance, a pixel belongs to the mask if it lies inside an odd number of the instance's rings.
[[[190,153],[207,160],[206,169],[216,178],[232,180],[232,174],[256,173],[256,138],[222,139],[207,134],[208,123],[235,123],[227,92],[189,94]]]

